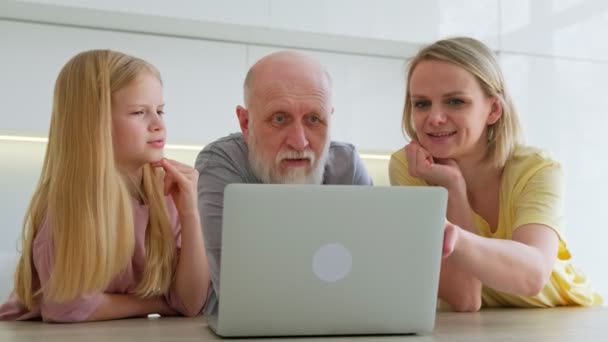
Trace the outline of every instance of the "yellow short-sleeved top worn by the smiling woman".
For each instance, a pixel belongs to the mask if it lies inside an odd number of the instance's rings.
[[[391,156],[391,185],[428,186],[422,179],[408,173],[404,149]],[[557,260],[551,278],[536,296],[520,296],[483,287],[482,305],[488,307],[553,307],[561,305],[602,304],[602,297],[593,292],[589,280],[568,261],[570,252],[562,235],[562,172],[559,163],[542,151],[518,146],[507,160],[500,183],[498,227],[490,225],[473,212],[477,234],[495,239],[512,239],[513,231],[526,224],[542,224],[552,228],[560,239]]]

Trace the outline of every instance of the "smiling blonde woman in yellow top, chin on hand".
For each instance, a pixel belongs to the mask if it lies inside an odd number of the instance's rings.
[[[440,40],[410,61],[407,81],[411,142],[389,174],[393,185],[448,190],[440,299],[456,311],[601,303],[568,261],[560,165],[523,145],[493,53],[471,38]]]

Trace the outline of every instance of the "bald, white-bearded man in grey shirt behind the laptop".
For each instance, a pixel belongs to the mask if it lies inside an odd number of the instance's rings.
[[[351,144],[330,141],[331,78],[315,59],[282,51],[247,73],[242,133],[200,152],[199,211],[212,280],[206,315],[218,307],[224,188],[230,183],[360,184],[372,179]]]

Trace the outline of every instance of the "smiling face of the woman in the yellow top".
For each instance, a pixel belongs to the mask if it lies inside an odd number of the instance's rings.
[[[433,157],[483,157],[487,126],[500,118],[502,107],[475,76],[453,63],[425,60],[414,68],[408,86],[416,135]]]

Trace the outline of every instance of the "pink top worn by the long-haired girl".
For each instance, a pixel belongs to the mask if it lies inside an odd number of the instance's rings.
[[[166,197],[169,218],[173,228],[173,236],[177,248],[181,247],[181,226],[177,217],[175,204],[170,197]],[[133,221],[135,224],[135,249],[131,262],[127,268],[118,274],[110,283],[104,293],[129,294],[135,289],[144,270],[145,249],[144,242],[148,226],[148,206],[133,201]],[[33,263],[35,267],[34,283],[44,285],[48,282],[53,267],[53,243],[50,228],[45,220],[34,238]],[[80,322],[86,320],[101,303],[103,293],[91,293],[66,303],[52,303],[38,298],[39,305],[29,311],[14,294],[8,301],[0,306],[0,320],[30,320],[42,318],[45,322]],[[165,298],[169,306],[180,312],[185,312],[184,306],[175,291],[175,284],[169,288]]]

